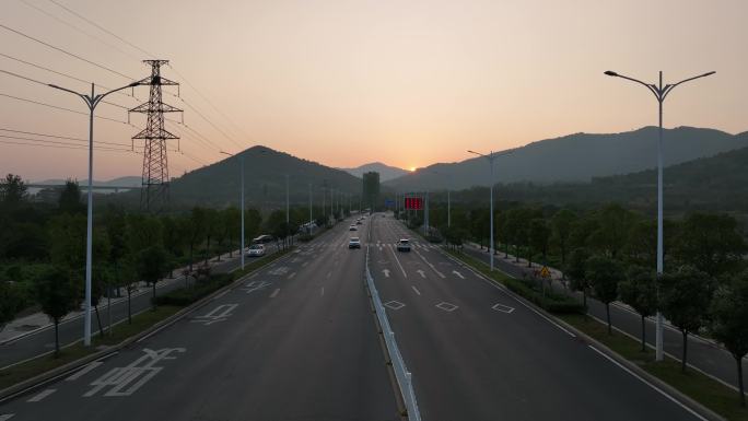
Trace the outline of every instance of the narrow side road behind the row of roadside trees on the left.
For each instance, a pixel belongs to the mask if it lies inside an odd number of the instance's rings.
[[[270,249],[274,250],[274,247]],[[214,273],[227,272],[239,266],[239,259],[234,254],[234,258],[223,260],[221,262],[212,262],[212,271]],[[247,258],[246,261],[252,261]],[[175,271],[175,279],[162,281],[156,284],[156,295],[165,294],[170,291],[185,286],[184,277]],[[191,281],[194,282],[194,281]],[[140,291],[133,293],[130,300],[132,314],[147,311],[151,307],[152,290],[150,286],[142,288]],[[106,327],[108,321],[108,311],[104,305],[106,300],[103,299],[100,303],[98,311],[102,318],[102,325]],[[96,320],[96,313],[92,309],[92,334],[98,332],[98,324]],[[127,319],[127,300],[117,301],[112,304],[112,323],[116,324]],[[60,347],[79,341],[83,338],[83,316],[73,317],[63,320],[59,326]],[[114,329],[117,327],[115,326]],[[48,354],[55,350],[55,328],[47,326],[46,328],[35,330],[34,332],[23,336],[22,338],[7,341],[0,344],[0,370],[7,369],[39,355]]]

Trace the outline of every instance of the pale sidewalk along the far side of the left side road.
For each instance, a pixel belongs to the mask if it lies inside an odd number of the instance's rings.
[[[233,258],[229,258],[229,253],[221,255],[221,261],[218,261],[218,256],[210,259],[208,261],[208,265],[211,267],[214,267],[219,264],[223,264],[227,260],[233,260],[237,259],[239,257],[238,250],[233,252]],[[195,267],[196,264],[192,264]],[[185,269],[189,268],[189,265],[176,268],[174,269],[174,274],[175,277],[172,278],[163,278],[159,283],[156,283],[156,290],[160,290],[162,288],[171,286],[176,282],[184,281],[185,278],[182,274]],[[118,297],[113,297],[112,299],[112,305],[114,306],[115,304],[127,301],[127,291],[124,288],[120,288],[120,294],[121,296]],[[132,291],[131,297],[140,296],[142,294],[148,294],[151,293],[151,286],[147,284],[145,282],[137,282],[135,284],[135,289]],[[98,302],[98,312],[102,314],[102,319],[105,317],[105,312],[109,305],[109,300],[106,297],[101,297]],[[65,321],[69,321],[79,317],[82,317],[84,314],[84,311],[81,308],[80,311],[71,312],[67,316],[65,316],[61,320],[60,324]],[[93,317],[95,318],[96,315],[94,314]],[[103,321],[102,321],[103,323]],[[94,327],[96,327],[96,321],[93,321]],[[19,317],[10,323],[8,323],[2,330],[0,330],[0,344],[20,339],[26,335],[34,334],[39,330],[44,330],[47,328],[52,327],[54,324],[49,320],[49,317],[47,317],[46,314],[43,312],[30,314],[23,317]]]

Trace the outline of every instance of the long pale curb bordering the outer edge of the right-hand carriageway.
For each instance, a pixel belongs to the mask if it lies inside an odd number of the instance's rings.
[[[446,254],[444,250],[440,248],[440,253],[445,254],[447,257],[452,257],[453,259],[459,261],[460,264],[465,265],[466,267],[472,268],[475,271],[480,273],[480,270],[474,268],[471,265],[463,261],[461,259],[451,256]],[[481,273],[482,276],[482,273]],[[483,276],[489,282],[493,283],[494,285],[500,285],[499,282],[496,282],[494,279],[488,278]],[[503,285],[501,285],[503,286]],[[644,369],[640,367],[639,365],[632,363],[631,361],[624,359],[623,356],[619,355],[617,352],[611,350],[610,348],[606,347],[605,344],[598,342],[596,339],[587,336],[587,334],[578,330],[574,326],[569,325],[564,320],[556,317],[551,313],[546,312],[544,308],[538,307],[537,305],[530,303],[529,301],[525,300],[524,297],[515,294],[507,288],[501,288],[501,291],[505,292],[507,295],[511,295],[513,299],[521,301],[523,304],[526,304],[527,306],[531,306],[533,309],[541,314],[548,319],[553,320],[553,323],[562,326],[564,329],[574,332],[582,341],[587,343],[587,346],[594,346],[597,351],[600,351],[605,355],[607,355],[609,359],[611,359],[613,362],[620,364],[622,367],[627,369],[630,371],[632,374],[635,376],[641,377],[645,382],[650,383],[651,385],[655,386],[655,388],[658,388],[662,393],[664,393],[666,396],[669,396],[670,398],[677,400],[681,405],[683,405],[686,408],[689,410],[693,411],[698,416],[710,420],[710,421],[727,421],[725,418],[722,416],[717,414],[716,412],[712,411],[711,409],[706,408],[705,406],[701,405],[700,402],[693,400],[689,396],[685,395],[680,390],[676,389],[674,386],[670,386],[668,383],[659,379],[658,377],[654,376],[653,374],[650,374],[648,372],[644,371]]]

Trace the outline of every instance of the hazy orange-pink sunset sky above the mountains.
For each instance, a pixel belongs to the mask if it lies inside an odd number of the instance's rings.
[[[185,124],[213,143],[167,122],[185,136],[184,154],[170,153],[172,176],[225,157],[219,149],[254,144],[331,166],[383,161],[410,168],[464,160],[466,149],[655,125],[652,94],[605,77],[608,69],[647,81],[663,70],[666,82],[716,70],[674,91],[665,126],[748,130],[745,0],[55,2],[172,61],[163,74],[183,83],[186,103],[165,101],[185,108]],[[130,78],[149,74],[143,52],[50,0],[0,0],[0,10],[2,25]],[[0,54],[107,87],[129,82],[2,27]],[[90,89],[3,56],[0,70]],[[72,95],[4,73],[0,94],[86,112]],[[145,100],[148,89],[136,96]],[[108,101],[138,104],[125,95]],[[97,115],[127,121],[124,108],[108,104]],[[144,117],[131,121],[142,128]],[[0,95],[0,129],[86,138],[87,117]],[[138,131],[108,120],[94,130],[96,140],[122,144]],[[0,173],[86,176],[85,150],[1,143],[9,141],[30,143],[0,138]],[[140,175],[139,154],[95,154],[97,179]]]

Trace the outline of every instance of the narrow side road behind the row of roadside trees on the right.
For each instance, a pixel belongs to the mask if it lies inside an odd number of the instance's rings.
[[[472,257],[479,258],[487,264],[490,261],[490,255],[487,252],[481,252],[472,247],[466,246],[464,248],[465,253]],[[507,262],[503,259],[503,254],[494,256],[494,267],[504,271],[505,273],[522,279],[523,272],[536,270],[537,267],[533,269],[517,267]],[[578,295],[578,294],[577,294]],[[581,297],[581,295],[578,295]],[[597,300],[587,297],[588,313],[600,320],[606,320],[605,304],[598,302]],[[639,314],[632,309],[621,305],[620,303],[613,303],[610,306],[610,319],[612,325],[622,331],[633,336],[638,340],[641,338],[642,321]],[[654,347],[655,344],[655,320],[653,317],[645,319],[646,326],[646,342]],[[682,355],[682,336],[680,330],[666,325],[663,330],[664,339],[664,350],[666,353],[670,354],[678,361]],[[653,350],[650,350],[653,352]],[[748,359],[747,359],[748,360]],[[714,377],[737,387],[737,370],[735,366],[735,359],[733,355],[718,347],[716,343],[698,338],[694,336],[689,336],[688,341],[688,363]],[[744,364],[744,378],[748,378],[748,364]]]

